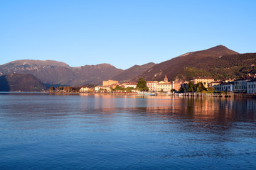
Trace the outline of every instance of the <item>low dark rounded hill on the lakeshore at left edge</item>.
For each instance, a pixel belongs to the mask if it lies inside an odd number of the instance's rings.
[[[9,74],[0,77],[0,91],[46,91],[43,82],[31,74]]]

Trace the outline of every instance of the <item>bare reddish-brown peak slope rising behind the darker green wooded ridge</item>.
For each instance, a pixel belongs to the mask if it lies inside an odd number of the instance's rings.
[[[171,60],[156,64],[151,69],[134,78],[134,80],[138,79],[139,77],[144,77],[146,80],[162,80],[164,79],[165,75],[167,75],[169,79],[174,80],[176,79],[178,73],[186,67],[201,67],[201,64],[204,64],[206,61],[217,59],[223,55],[238,55],[238,52],[229,50],[223,45],[218,45],[208,50],[188,52]],[[183,79],[189,78],[191,77],[183,77]]]

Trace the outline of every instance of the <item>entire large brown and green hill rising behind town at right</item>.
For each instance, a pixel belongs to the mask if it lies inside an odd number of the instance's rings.
[[[146,80],[189,80],[193,77],[213,77],[214,79],[238,78],[255,74],[256,53],[239,54],[223,45],[208,50],[188,52],[166,62],[156,64],[139,77]],[[138,79],[136,77],[134,80]]]

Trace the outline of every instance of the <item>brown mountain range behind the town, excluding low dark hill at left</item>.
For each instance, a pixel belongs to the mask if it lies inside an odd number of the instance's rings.
[[[239,54],[223,45],[207,50],[188,52],[171,60],[154,64],[134,65],[129,69],[117,69],[111,64],[70,67],[64,62],[53,60],[16,60],[0,65],[0,75],[32,74],[43,84],[82,86],[102,84],[102,80],[137,81],[144,77],[147,81],[164,79],[189,80],[204,76],[215,79],[238,78],[242,74],[256,74],[256,53]]]

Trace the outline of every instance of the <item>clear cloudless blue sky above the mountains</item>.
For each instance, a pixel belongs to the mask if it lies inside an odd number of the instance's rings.
[[[256,1],[0,1],[0,64],[164,62],[225,45],[256,52]]]

